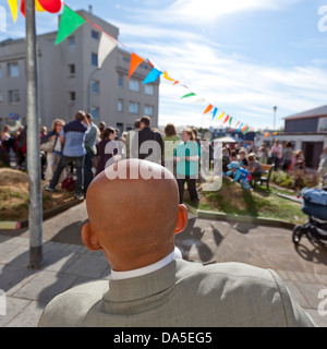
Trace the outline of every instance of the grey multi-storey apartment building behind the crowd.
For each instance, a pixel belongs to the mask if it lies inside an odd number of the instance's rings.
[[[119,28],[77,11],[83,17],[118,38]],[[131,53],[117,47],[98,69],[101,32],[85,23],[55,46],[57,32],[37,37],[38,112],[40,124],[56,118],[72,120],[77,110],[93,115],[95,123],[128,131],[147,115],[158,125],[159,80],[143,84],[152,65],[143,62],[128,80]],[[0,43],[0,125],[26,123],[25,39]]]

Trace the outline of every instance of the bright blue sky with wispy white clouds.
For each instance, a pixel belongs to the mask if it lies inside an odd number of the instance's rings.
[[[327,104],[327,32],[318,29],[327,0],[65,2],[73,10],[93,4],[120,28],[121,43],[196,93],[181,100],[185,89],[161,79],[159,124],[219,127],[203,115],[213,104],[254,129],[272,128],[277,106],[280,128],[282,118]],[[57,14],[37,15],[39,34],[57,25]],[[22,36],[22,15],[16,24],[8,16],[0,40]]]

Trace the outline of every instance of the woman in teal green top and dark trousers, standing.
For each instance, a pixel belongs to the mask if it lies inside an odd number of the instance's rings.
[[[190,198],[192,203],[197,206],[199,197],[196,189],[196,180],[198,178],[201,147],[195,140],[192,129],[185,129],[182,132],[182,141],[173,153],[177,163],[175,173],[180,192],[180,204],[183,203],[184,185],[186,182]]]

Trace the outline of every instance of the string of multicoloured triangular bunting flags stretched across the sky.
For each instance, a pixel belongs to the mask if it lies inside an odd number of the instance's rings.
[[[10,7],[12,16],[13,16],[13,21],[15,22],[16,17],[17,17],[19,0],[8,0],[8,3]],[[83,17],[82,15],[80,15],[78,13],[73,11],[71,8],[69,8],[69,5],[63,3],[63,0],[35,0],[35,8],[36,8],[36,11],[38,11],[38,12],[47,11],[50,13],[57,13],[61,10],[62,7],[63,7],[63,11],[62,11],[60,23],[59,23],[57,39],[55,43],[56,46],[59,45],[60,43],[62,43],[64,39],[66,39],[80,26],[82,26],[85,22],[87,22],[101,32],[101,37],[100,37],[99,47],[98,47],[98,68],[99,69],[102,67],[102,64],[104,64],[105,60],[108,58],[108,56],[120,44],[121,46],[123,46],[125,49],[128,49],[131,52],[130,70],[129,70],[129,75],[128,75],[129,80],[134,74],[134,72],[136,71],[138,65],[143,61],[145,61],[148,64],[150,64],[153,67],[153,69],[150,70],[148,75],[144,79],[143,84],[154,83],[161,75],[164,75],[165,80],[172,82],[172,86],[175,86],[179,84],[180,86],[189,89],[189,87],[186,85],[181,84],[180,81],[174,80],[171,76],[169,76],[169,74],[166,70],[160,71],[159,69],[155,68],[154,64],[149,60],[145,60],[142,57],[140,57],[138,55],[134,53],[123,43],[119,41],[118,39],[112,37],[110,34],[106,33],[99,25],[92,23],[89,20]],[[25,15],[25,13],[24,13],[25,12],[25,0],[21,1],[21,12]],[[190,98],[190,97],[194,97],[194,96],[197,96],[197,94],[190,91],[190,93],[183,95],[182,97],[180,97],[180,99]],[[201,97],[195,103],[205,103],[205,101],[206,101],[205,98]],[[213,112],[211,120],[215,120],[217,117],[218,110],[219,110],[218,107],[214,106],[213,104],[208,104],[205,111],[204,111],[204,115]],[[225,112],[225,111],[221,112],[220,116],[217,118],[217,120],[222,119],[222,117],[225,115],[227,115],[227,112]],[[232,127],[232,123],[235,122],[235,119],[233,117],[231,117],[230,115],[227,115],[222,124],[225,124],[228,121],[229,121],[229,127]],[[238,121],[235,123],[234,129],[237,130],[238,127],[239,127],[238,132],[247,133],[247,132],[250,132],[250,130],[252,130],[250,127],[245,125],[244,123],[241,123],[241,121]],[[267,136],[267,135],[265,135],[265,136]]]

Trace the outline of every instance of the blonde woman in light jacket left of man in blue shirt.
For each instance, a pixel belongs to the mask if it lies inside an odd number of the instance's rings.
[[[45,171],[45,180],[48,183],[50,183],[62,155],[63,144],[60,142],[60,133],[64,124],[63,120],[56,119],[52,122],[51,130],[41,139],[41,144],[51,143],[50,148],[47,149],[47,167]],[[61,183],[65,179],[65,169],[63,169],[58,182]]]

